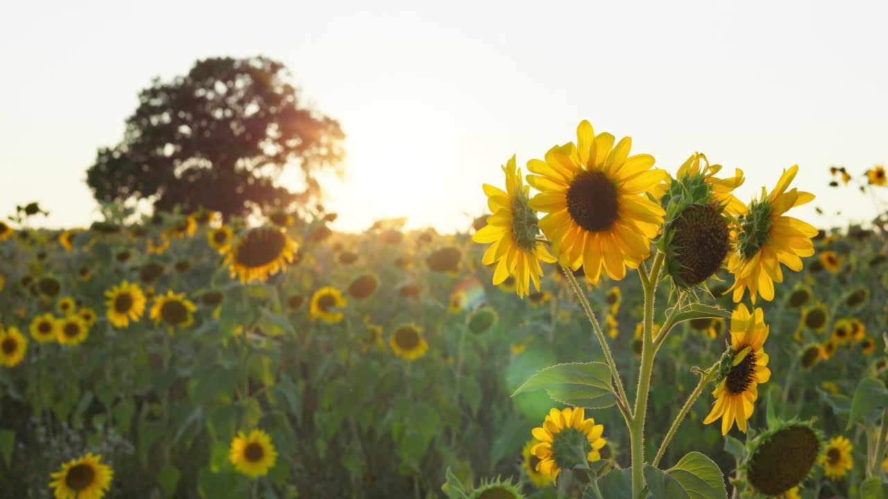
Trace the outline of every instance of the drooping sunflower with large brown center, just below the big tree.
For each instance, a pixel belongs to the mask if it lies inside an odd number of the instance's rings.
[[[256,227],[238,237],[228,249],[226,264],[241,282],[265,281],[293,262],[298,245],[274,227]]]

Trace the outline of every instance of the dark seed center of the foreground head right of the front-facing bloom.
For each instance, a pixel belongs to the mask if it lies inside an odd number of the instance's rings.
[[[676,219],[673,229],[679,277],[690,286],[706,281],[718,271],[730,248],[725,217],[711,206],[695,205]]]

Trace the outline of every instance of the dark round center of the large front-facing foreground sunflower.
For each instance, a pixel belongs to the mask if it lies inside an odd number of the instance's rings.
[[[583,171],[567,187],[567,212],[589,232],[606,231],[618,214],[616,186],[600,171]]]

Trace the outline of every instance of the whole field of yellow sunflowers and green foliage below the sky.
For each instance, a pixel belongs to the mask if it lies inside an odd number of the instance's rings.
[[[0,222],[0,497],[884,497],[888,222],[653,164],[583,122],[457,234]]]

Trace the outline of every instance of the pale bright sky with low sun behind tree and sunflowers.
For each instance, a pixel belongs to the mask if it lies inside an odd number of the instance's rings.
[[[18,3],[0,19],[0,215],[39,200],[40,225],[88,225],[85,171],[140,89],[262,54],[347,135],[345,178],[324,183],[338,230],[464,229],[501,164],[583,119],[673,173],[694,151],[741,168],[744,200],[798,164],[818,199],[797,217],[868,220],[828,168],[888,163],[886,20],[881,1]]]

